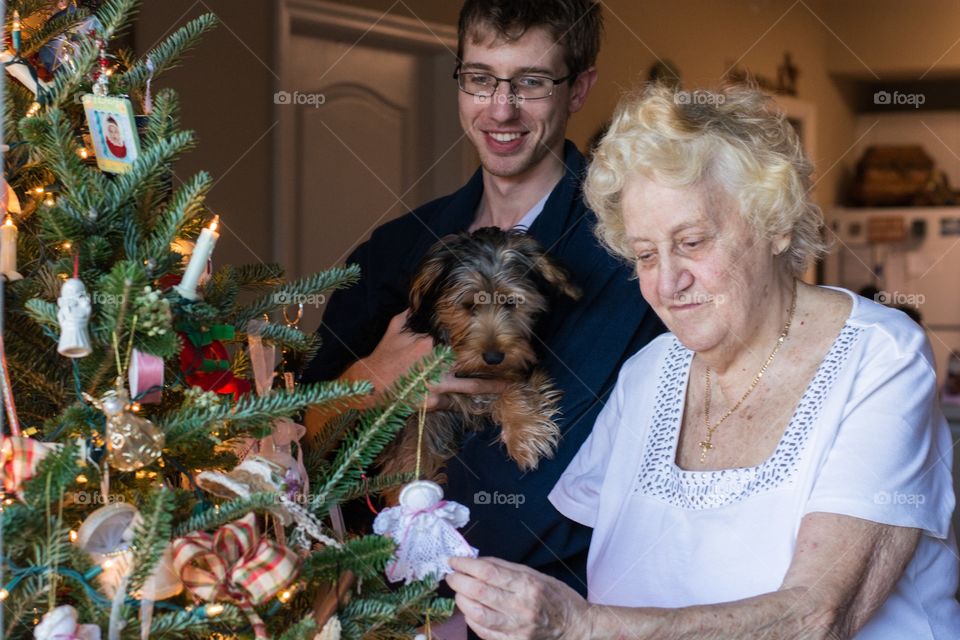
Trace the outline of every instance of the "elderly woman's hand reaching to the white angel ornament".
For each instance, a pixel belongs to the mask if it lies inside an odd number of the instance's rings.
[[[447,584],[485,640],[588,640],[590,605],[555,578],[497,558],[450,558]]]

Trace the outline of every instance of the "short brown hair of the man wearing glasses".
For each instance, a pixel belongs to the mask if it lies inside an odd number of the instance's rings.
[[[478,29],[493,29],[497,37],[509,42],[534,27],[545,28],[563,47],[571,76],[596,64],[603,16],[594,0],[466,0],[460,10],[457,61],[463,62],[466,39],[477,41]]]

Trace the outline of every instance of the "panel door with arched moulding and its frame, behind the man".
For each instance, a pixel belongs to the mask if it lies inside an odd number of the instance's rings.
[[[283,0],[274,96],[274,259],[288,279],[342,264],[387,220],[476,167],[457,117],[456,30]],[[320,309],[304,310],[303,328]]]

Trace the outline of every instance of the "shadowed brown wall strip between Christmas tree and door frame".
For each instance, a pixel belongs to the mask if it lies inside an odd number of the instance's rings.
[[[206,5],[207,8],[204,7]],[[145,52],[162,36],[205,11],[222,24],[155,86],[180,95],[181,122],[196,132],[197,149],[176,167],[185,180],[208,171],[216,182],[207,199],[224,233],[217,264],[272,260],[273,3],[265,0],[146,0],[135,45]]]

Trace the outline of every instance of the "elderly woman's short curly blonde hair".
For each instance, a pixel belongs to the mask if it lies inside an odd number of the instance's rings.
[[[687,92],[649,84],[620,102],[584,192],[599,218],[597,237],[630,261],[621,196],[637,174],[675,188],[712,180],[760,237],[790,235],[781,258],[795,276],[827,250],[823,216],[810,199],[813,165],[786,117],[756,88]]]

